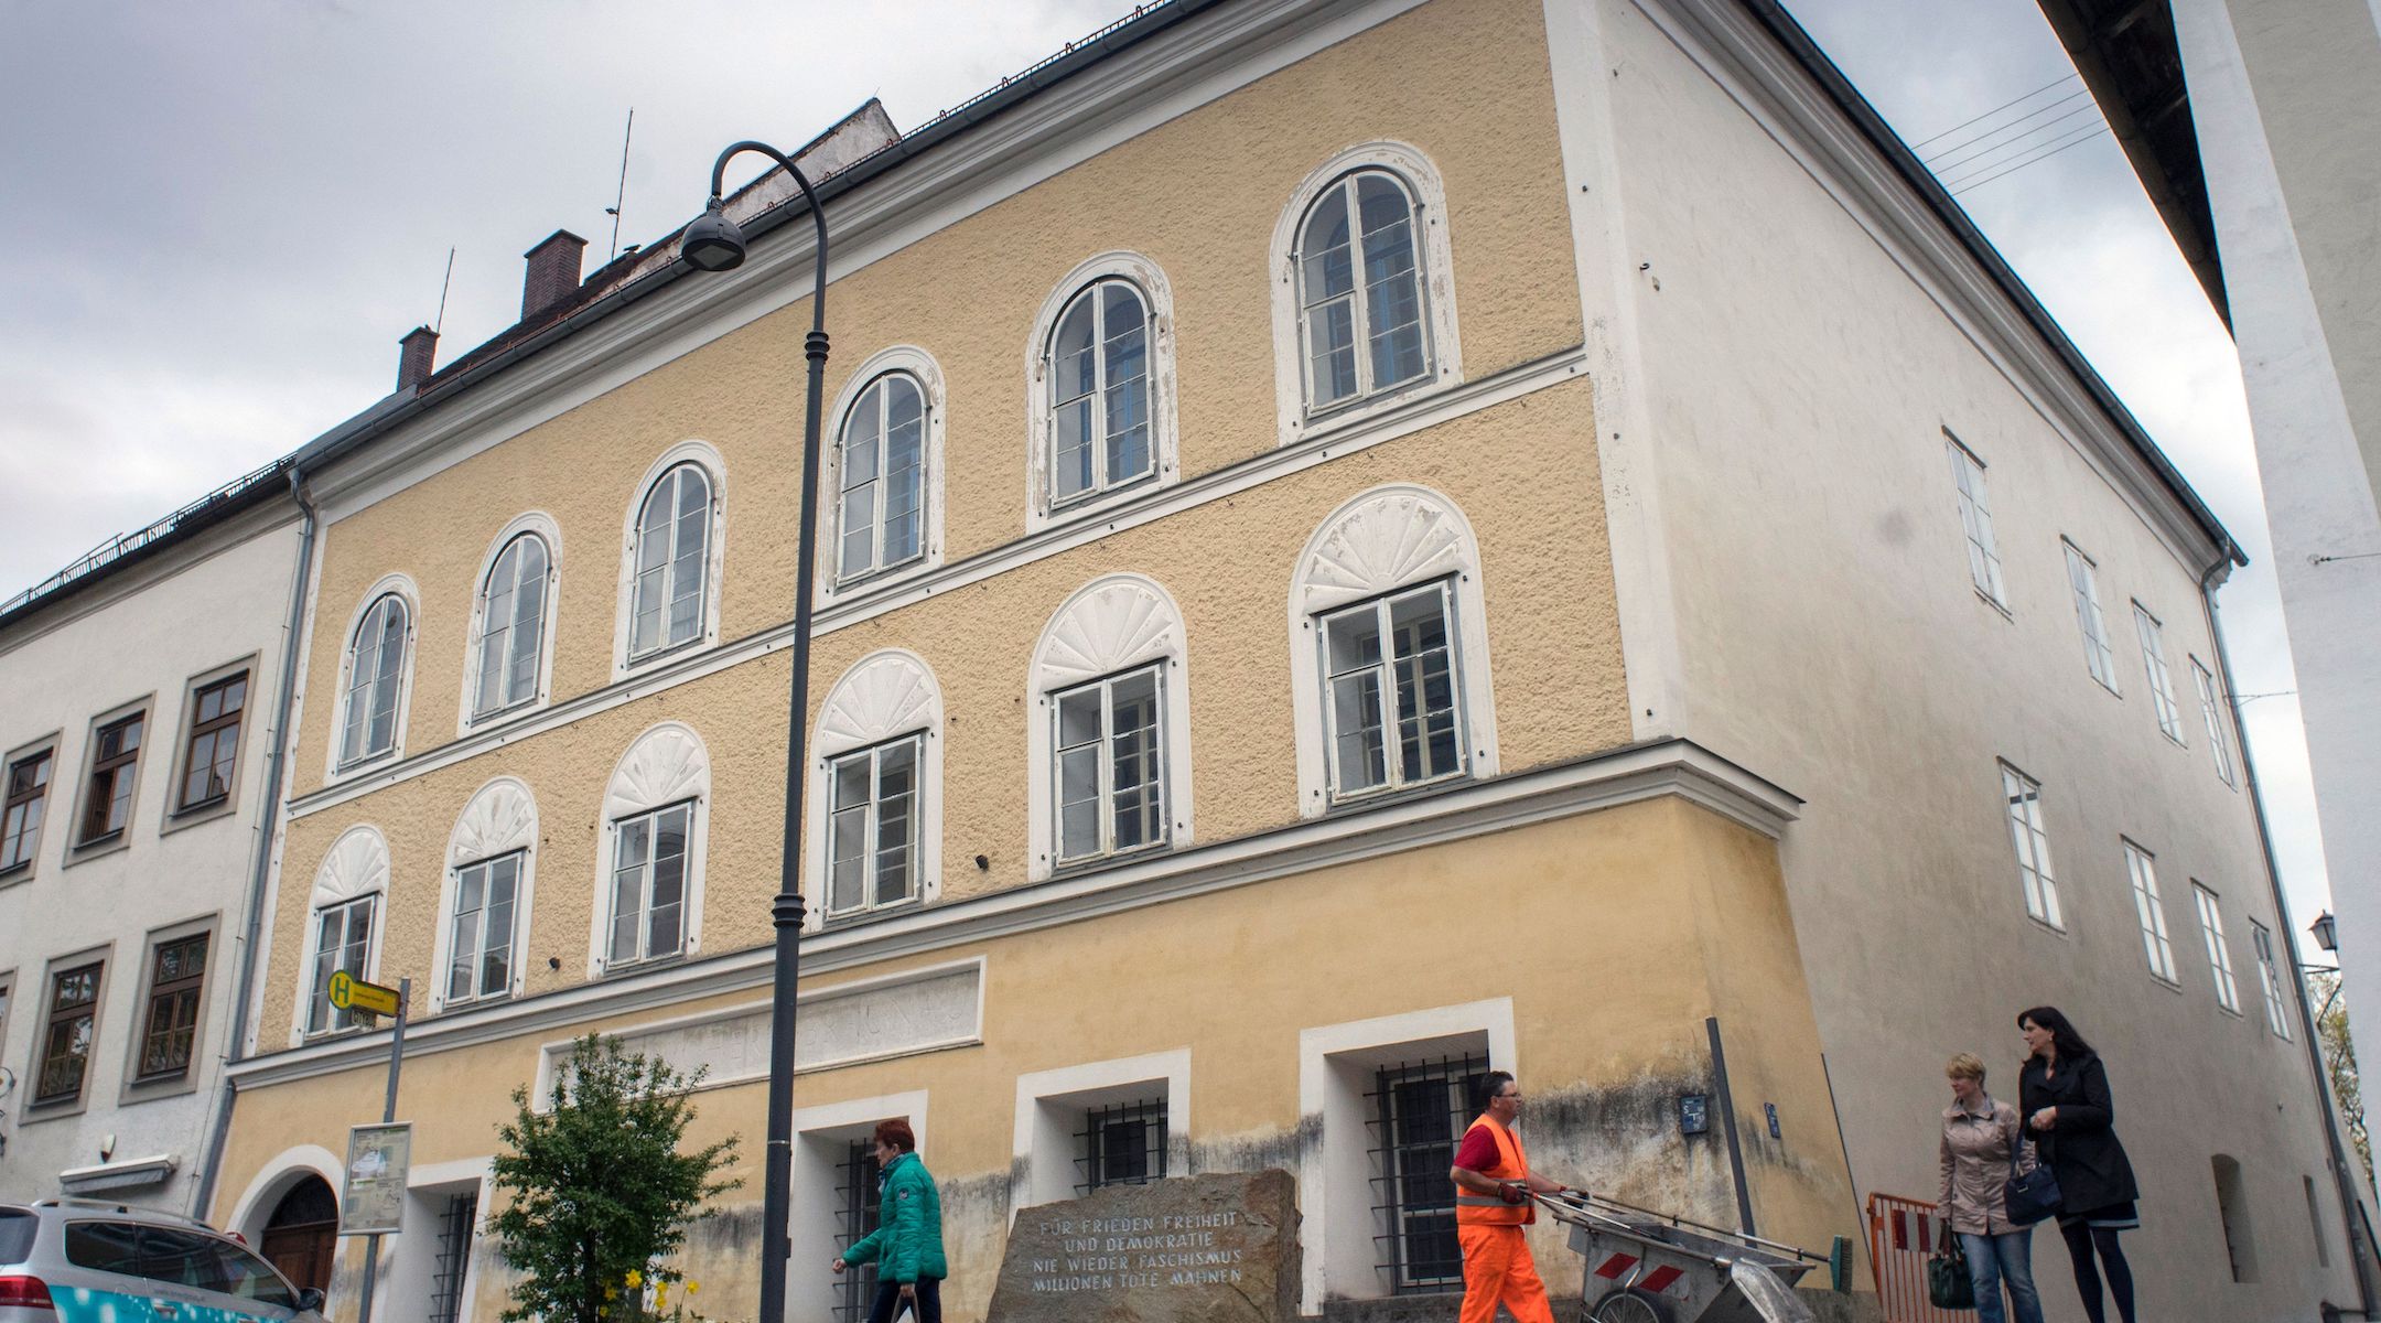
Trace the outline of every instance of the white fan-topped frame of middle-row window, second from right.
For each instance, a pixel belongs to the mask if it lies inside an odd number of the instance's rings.
[[[1067,859],[1060,864],[1060,695],[1086,685],[1157,676],[1160,792],[1164,804],[1164,840],[1140,849],[1181,849],[1190,845],[1190,669],[1186,664],[1183,616],[1174,597],[1138,573],[1110,573],[1079,588],[1043,626],[1033,647],[1026,692],[1026,876],[1048,878],[1057,869],[1079,869],[1112,854]],[[1102,695],[1105,702],[1105,695]],[[1105,769],[1105,757],[1100,759]],[[1107,788],[1102,771],[1102,814]],[[1133,849],[1138,854],[1140,849]]]

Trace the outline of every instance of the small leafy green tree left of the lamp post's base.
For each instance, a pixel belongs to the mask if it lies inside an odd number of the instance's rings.
[[[519,1116],[498,1128],[493,1164],[512,1202],[488,1218],[521,1273],[505,1323],[598,1323],[607,1285],[650,1271],[686,1242],[688,1223],[712,1216],[712,1197],[743,1185],[717,1180],[733,1135],[679,1152],[702,1076],[590,1033],[555,1071],[545,1114],[529,1106],[529,1085],[512,1090]]]

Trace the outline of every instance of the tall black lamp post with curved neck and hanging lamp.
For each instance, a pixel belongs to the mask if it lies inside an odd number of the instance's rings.
[[[805,783],[805,733],[810,726],[810,597],[817,581],[819,554],[819,504],[812,500],[812,483],[819,474],[819,390],[826,378],[826,214],[810,178],[786,152],[767,143],[731,143],[712,164],[712,200],[702,217],[686,226],[679,240],[679,257],[695,271],[733,271],[745,259],[743,231],[726,217],[721,205],[721,181],[729,159],[740,152],[760,152],[786,167],[802,197],[810,200],[810,221],[817,226],[817,288],[810,295],[810,336],[802,338],[802,357],[810,359],[810,395],[802,402],[802,514],[795,535],[795,588],[793,588],[793,695],[786,707],[786,833],[779,854],[776,899],[769,918],[776,923],[776,978],[769,1007],[769,1149],[762,1168],[762,1228],[760,1228],[760,1318],[783,1323],[786,1318],[786,1261],[793,1247],[786,1240],[786,1221],[793,1197],[793,1028],[795,995],[802,978],[802,783]]]

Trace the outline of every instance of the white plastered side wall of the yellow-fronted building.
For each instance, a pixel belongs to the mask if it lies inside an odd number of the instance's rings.
[[[2131,835],[2210,880],[2241,952],[2274,926],[2255,816],[2200,740],[2160,733],[2138,650],[2126,697],[2091,681],[2064,583],[2071,535],[2179,669],[2212,659],[2210,535],[1743,5],[1548,0],[1548,21],[1607,490],[1626,474],[1633,716],[1807,797],[1779,854],[1838,1116],[1786,1135],[1841,1118],[1862,1195],[1931,1190],[1943,1056],[2005,1087],[2017,1011],[2064,1004],[2162,1209],[2129,1237],[2145,1313],[2350,1299],[2305,1233],[2300,1180],[2326,1168],[2298,1045],[2221,1011],[2195,949],[2181,995],[2155,980],[2124,878]],[[1993,457],[2007,614],[1971,588],[1945,428]],[[2062,933],[2026,916],[1998,759],[2043,783]],[[2262,1285],[2205,1252],[2214,1152],[2267,1173]],[[2038,1283],[2074,1311],[2071,1283]]]

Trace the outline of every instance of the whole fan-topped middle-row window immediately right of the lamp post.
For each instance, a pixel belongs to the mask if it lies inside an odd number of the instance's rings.
[[[943,695],[912,652],[862,657],[819,704],[810,792],[821,918],[933,899],[943,880]]]

